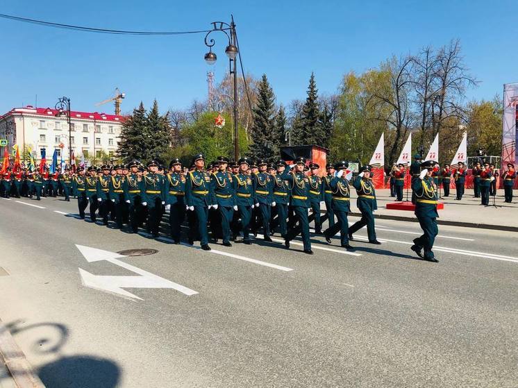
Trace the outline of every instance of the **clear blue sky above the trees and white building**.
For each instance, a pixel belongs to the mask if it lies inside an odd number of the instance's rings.
[[[416,53],[460,38],[465,62],[481,81],[469,99],[501,95],[518,81],[516,1],[12,1],[0,13],[99,28],[144,31],[208,29],[235,17],[244,69],[266,73],[277,100],[306,96],[311,71],[321,93],[336,92],[349,70],[376,67],[392,54]],[[225,37],[217,39],[220,81],[228,66]],[[220,35],[220,36],[217,36]],[[204,34],[165,37],[101,35],[0,19],[0,112],[59,96],[76,110],[95,107],[116,86],[122,110],[157,99],[160,110],[206,98]]]

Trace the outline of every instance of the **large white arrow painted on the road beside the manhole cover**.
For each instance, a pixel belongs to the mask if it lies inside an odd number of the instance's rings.
[[[138,273],[140,276],[99,276],[93,275],[92,273],[79,269],[81,274],[81,281],[86,287],[94,289],[100,289],[101,291],[112,292],[113,294],[119,294],[122,296],[128,296],[130,298],[140,299],[138,296],[131,294],[131,292],[125,291],[123,288],[172,288],[176,289],[187,296],[198,294],[196,291],[179,285],[178,283],[169,281],[160,276],[153,275],[143,269],[133,267],[133,265],[126,262],[117,260],[118,258],[125,258],[124,255],[119,253],[113,253],[110,251],[103,251],[102,249],[91,248],[90,246],[77,245],[76,247],[87,260],[87,262],[97,262],[106,260],[112,264],[118,265],[119,267],[128,269]]]

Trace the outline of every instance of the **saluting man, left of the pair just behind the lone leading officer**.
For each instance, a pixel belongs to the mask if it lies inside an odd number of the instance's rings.
[[[354,248],[349,244],[349,220],[347,219],[347,213],[351,211],[351,192],[349,191],[349,181],[345,178],[347,167],[349,167],[349,163],[345,160],[338,162],[335,166],[338,174],[331,179],[329,188],[333,194],[331,205],[335,210],[338,222],[326,229],[324,235],[326,236],[326,242],[331,244],[331,237],[340,230],[340,244],[347,251],[354,251]]]

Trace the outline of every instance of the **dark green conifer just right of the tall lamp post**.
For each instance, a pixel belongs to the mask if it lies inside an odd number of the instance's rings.
[[[252,143],[249,148],[251,158],[265,158],[267,160],[276,158],[278,152],[276,152],[276,141],[273,136],[274,112],[275,95],[271,90],[266,74],[263,74],[258,85],[257,104],[253,108]]]

